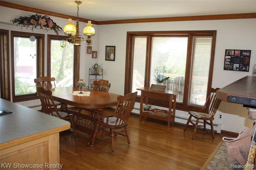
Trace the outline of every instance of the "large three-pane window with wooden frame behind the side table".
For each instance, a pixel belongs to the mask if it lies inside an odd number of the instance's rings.
[[[154,75],[170,77],[163,85],[181,91],[177,109],[202,108],[210,93],[216,31],[128,32],[125,91],[156,84]],[[139,102],[139,96],[137,97]],[[156,99],[150,104],[168,107]]]

